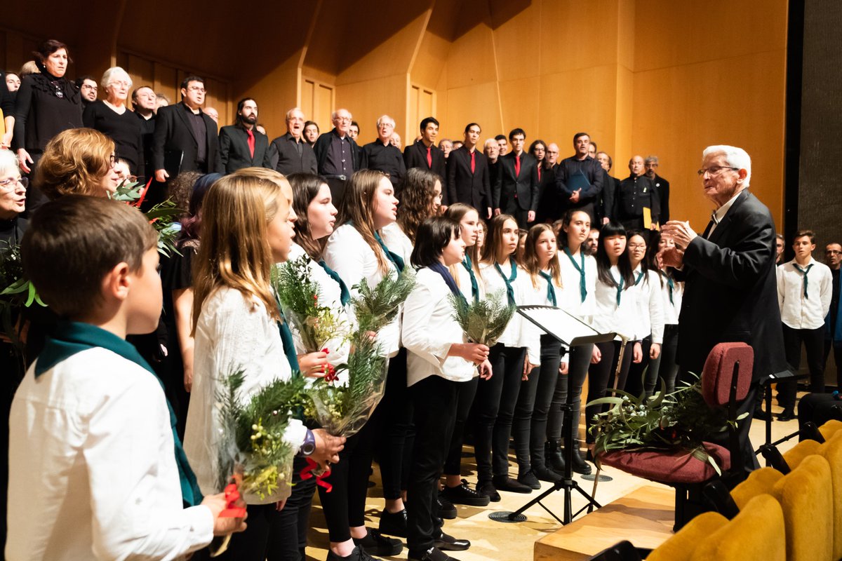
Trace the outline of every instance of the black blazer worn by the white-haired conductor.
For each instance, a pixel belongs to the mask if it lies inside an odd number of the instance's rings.
[[[705,234],[710,230],[710,225]],[[721,342],[754,348],[756,381],[786,370],[775,278],[775,222],[748,191],[740,193],[709,240],[687,246],[679,315],[677,362],[701,375],[711,349]]]

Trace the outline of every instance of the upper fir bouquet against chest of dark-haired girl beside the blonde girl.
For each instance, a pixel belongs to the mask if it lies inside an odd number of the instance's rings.
[[[330,306],[320,304],[319,286],[310,280],[309,257],[304,255],[273,267],[272,285],[306,352],[321,351],[328,341],[334,346],[344,343],[348,337],[347,322],[340,320]]]

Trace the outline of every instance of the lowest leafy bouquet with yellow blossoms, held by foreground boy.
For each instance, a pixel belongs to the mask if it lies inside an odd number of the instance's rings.
[[[292,484],[292,459],[296,455],[284,441],[290,410],[302,405],[304,378],[275,380],[243,404],[240,389],[245,373],[237,370],[221,378],[216,401],[221,425],[219,489],[242,478],[241,490],[261,500],[284,495]]]

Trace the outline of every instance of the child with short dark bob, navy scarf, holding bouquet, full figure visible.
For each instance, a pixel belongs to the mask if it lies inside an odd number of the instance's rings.
[[[477,373],[483,379],[490,378],[491,365],[488,347],[465,342],[460,325],[453,319],[450,294],[464,296],[448,267],[465,256],[461,226],[450,218],[435,217],[424,220],[417,231],[412,263],[418,273],[404,306],[402,330],[408,350],[408,394],[415,410],[407,547],[410,559],[435,559],[446,558],[440,550],[461,551],[471,545],[441,531],[435,521],[436,499],[461,386],[469,384]]]

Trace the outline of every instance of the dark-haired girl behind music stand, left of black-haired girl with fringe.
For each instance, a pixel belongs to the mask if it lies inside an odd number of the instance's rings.
[[[558,238],[559,264],[562,267],[562,290],[559,307],[576,315],[585,323],[594,319],[596,305],[596,260],[589,255],[588,235],[590,233],[590,215],[584,210],[568,210],[561,225],[562,235]],[[562,358],[562,371],[556,391],[552,396],[552,406],[546,427],[546,453],[552,469],[564,472],[564,455],[561,446],[569,435],[573,442],[573,471],[577,474],[590,474],[590,465],[579,453],[578,424],[579,411],[582,407],[582,386],[588,376],[591,362],[598,361],[599,352],[593,344],[572,347],[567,357]],[[570,415],[562,412],[562,404],[570,404]],[[562,432],[563,428],[563,432]]]

